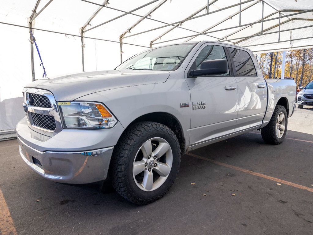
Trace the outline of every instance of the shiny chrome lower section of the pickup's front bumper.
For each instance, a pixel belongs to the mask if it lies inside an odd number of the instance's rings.
[[[18,138],[19,153],[42,177],[60,183],[86,184],[105,180],[113,147],[85,152],[40,152]]]

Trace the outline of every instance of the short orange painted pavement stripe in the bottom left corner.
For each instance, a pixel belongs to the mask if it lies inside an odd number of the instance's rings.
[[[0,232],[2,235],[17,235],[7,203],[0,189]]]

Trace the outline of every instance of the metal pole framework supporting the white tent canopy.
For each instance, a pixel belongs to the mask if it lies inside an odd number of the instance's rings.
[[[281,40],[280,34],[283,32],[287,32],[287,31],[292,32],[294,30],[304,30],[306,28],[313,27],[313,24],[312,24],[312,25],[305,25],[305,26],[301,26],[301,27],[291,27],[291,28],[281,29],[282,25],[286,25],[289,22],[294,22],[294,21],[298,21],[298,20],[305,20],[305,21],[313,22],[313,17],[312,18],[297,17],[298,15],[301,15],[301,14],[303,15],[305,13],[311,13],[311,12],[313,12],[313,9],[277,9],[273,6],[273,4],[269,3],[269,0],[246,0],[246,1],[239,0],[239,3],[235,3],[232,5],[229,4],[228,6],[224,6],[223,8],[219,8],[216,10],[212,10],[211,8],[219,0],[211,0],[211,1],[208,0],[207,4],[204,5],[203,7],[199,8],[195,12],[189,14],[187,17],[185,17],[181,20],[172,22],[172,23],[167,23],[167,22],[164,22],[163,20],[151,17],[151,14],[156,12],[156,11],[159,11],[160,8],[164,5],[164,3],[168,2],[168,0],[152,0],[148,3],[145,3],[139,7],[131,9],[129,11],[124,11],[122,9],[109,7],[108,4],[110,4],[110,2],[109,2],[110,0],[104,0],[101,4],[95,3],[92,1],[87,1],[87,0],[80,0],[80,1],[98,6],[98,8],[95,10],[95,12],[92,15],[90,15],[90,17],[86,21],[86,23],[80,28],[80,35],[50,31],[47,29],[40,29],[40,28],[34,27],[35,18],[37,18],[38,15],[40,15],[42,12],[44,12],[44,10],[49,7],[49,5],[53,2],[53,0],[49,0],[44,5],[44,7],[41,8],[38,12],[37,12],[37,10],[38,10],[38,6],[39,6],[39,3],[41,2],[41,0],[36,0],[35,6],[32,10],[32,14],[28,18],[28,27],[25,27],[22,25],[16,25],[16,24],[4,23],[4,22],[0,22],[0,23],[19,26],[19,27],[23,27],[23,28],[28,28],[30,34],[33,33],[34,30],[42,30],[42,31],[46,31],[46,32],[60,33],[60,34],[65,34],[65,35],[72,35],[74,37],[80,37],[80,39],[81,39],[81,60],[82,60],[82,70],[83,71],[85,71],[85,58],[84,58],[85,57],[84,56],[84,49],[85,49],[84,39],[85,38],[92,38],[95,40],[102,40],[102,41],[119,43],[120,44],[121,63],[123,62],[123,55],[122,54],[123,54],[123,45],[124,44],[140,46],[140,47],[145,47],[145,48],[152,48],[153,46],[156,46],[158,44],[164,44],[164,43],[169,43],[169,42],[176,42],[176,41],[181,41],[181,40],[185,40],[187,42],[187,41],[190,41],[194,38],[197,38],[198,36],[204,35],[204,36],[207,36],[209,38],[214,38],[218,42],[228,42],[228,43],[233,43],[235,45],[240,45],[240,46],[255,47],[255,46],[261,46],[261,45],[265,45],[265,44],[268,45],[268,44],[277,44],[278,43],[278,45],[279,45],[280,43],[288,42],[288,41],[290,41],[292,43],[293,41],[299,41],[299,40],[305,40],[305,39],[312,39],[313,38],[312,35],[309,37],[301,37],[301,38],[292,38],[290,36],[290,40]],[[111,2],[112,1],[113,0],[111,0]],[[170,1],[172,1],[172,0],[170,0]],[[156,3],[156,5],[154,3]],[[247,5],[247,3],[250,3],[250,4]],[[262,8],[261,8],[262,18],[260,18],[258,20],[251,21],[249,23],[242,24],[242,22],[241,22],[242,14],[244,14],[245,11],[247,11],[249,8],[256,6],[258,3],[262,4]],[[141,14],[136,13],[138,10],[146,8],[151,4],[153,5],[153,7],[151,7],[150,10],[147,11],[146,14],[141,15]],[[264,16],[264,5],[267,5],[268,7],[272,8],[274,10],[274,12],[269,13],[266,16]],[[239,10],[237,10],[236,7],[239,7]],[[97,25],[95,25],[93,27],[90,27],[91,26],[90,23],[97,17],[97,15],[100,13],[100,11],[103,11],[103,9],[105,9],[105,8],[114,10],[116,12],[121,12],[122,14],[118,15],[117,17],[106,20],[102,23],[98,23]],[[227,17],[224,17],[220,21],[213,23],[209,27],[206,27],[205,29],[201,30],[200,32],[198,32],[197,30],[194,30],[192,28],[182,27],[182,24],[186,23],[188,21],[197,20],[199,18],[203,18],[203,17],[206,17],[208,15],[213,15],[216,13],[221,14],[223,12],[226,12],[229,9],[233,9],[233,13],[231,13],[230,15],[227,15]],[[204,14],[201,14],[201,12],[203,10],[206,10],[206,12]],[[278,14],[278,16],[277,16],[277,14]],[[139,19],[136,22],[132,23],[130,27],[126,28],[126,30],[123,30],[122,33],[119,35],[119,37],[116,38],[117,39],[116,41],[115,40],[108,40],[105,38],[88,37],[85,35],[87,32],[94,30],[95,28],[99,28],[101,26],[104,26],[105,24],[113,22],[119,18],[125,17],[126,15],[136,16]],[[227,23],[230,20],[232,20],[234,17],[239,17],[238,24],[236,24],[235,26],[226,27],[228,25]],[[286,20],[283,20],[281,22],[281,19],[285,19],[285,18],[286,18]],[[150,21],[154,21],[157,23],[161,23],[162,25],[159,27],[155,27],[155,28],[148,28],[147,30],[144,30],[144,31],[131,33],[131,30],[133,30],[134,28],[138,28],[138,25],[140,25],[145,20],[150,20]],[[279,21],[279,23],[276,22],[277,20]],[[268,23],[268,22],[270,22],[271,25],[264,28],[263,24]],[[273,23],[271,23],[271,22],[273,22]],[[259,25],[259,24],[261,24],[261,30],[260,31],[258,31],[256,33],[251,33],[250,35],[245,35],[245,36],[241,36],[241,37],[237,36],[236,37],[236,34],[243,32],[243,31],[247,31],[247,29],[249,29],[249,27],[253,27],[254,25]],[[126,39],[130,39],[130,38],[133,38],[135,36],[139,36],[139,35],[146,34],[146,33],[151,33],[152,31],[159,30],[162,28],[167,28],[167,30],[165,30],[163,33],[159,34],[159,36],[157,36],[154,39],[147,42],[147,45],[140,45],[138,43],[125,42]],[[164,38],[165,36],[168,36],[169,33],[173,32],[173,30],[175,30],[176,28],[184,30],[186,32],[186,35],[183,37],[171,36],[170,38],[168,38],[166,40],[162,40],[162,37]],[[234,31],[231,33],[228,33],[227,35],[222,36],[222,37],[218,37],[218,36],[214,35],[214,33],[229,31],[229,30],[234,30]],[[264,35],[271,35],[271,34],[278,34],[278,38],[275,41],[273,40],[273,41],[267,42],[267,43],[254,43],[253,44],[253,43],[249,42],[249,43],[245,44],[245,42],[247,42],[249,39],[256,38],[259,36],[264,36]],[[33,43],[34,43],[33,39],[32,39],[32,37],[30,37],[32,79],[35,80]],[[278,45],[275,48],[275,50],[284,49],[284,48],[279,48]],[[313,42],[310,45],[302,45],[301,47],[310,47],[312,45],[313,45]],[[297,47],[299,48],[299,46],[297,46]],[[260,50],[255,50],[255,52],[259,52],[259,51]]]

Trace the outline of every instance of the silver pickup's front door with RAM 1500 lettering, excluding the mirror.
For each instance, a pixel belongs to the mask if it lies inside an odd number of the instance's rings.
[[[223,44],[204,43],[186,69],[186,81],[191,95],[190,145],[198,145],[234,132],[238,111],[238,92],[229,64],[227,74],[189,76],[190,69],[200,69],[201,62],[230,57]]]

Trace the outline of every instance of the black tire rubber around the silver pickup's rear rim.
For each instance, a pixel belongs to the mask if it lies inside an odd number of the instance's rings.
[[[285,124],[285,132],[283,134],[283,136],[281,138],[278,138],[276,136],[276,120],[278,115],[283,112],[285,114],[285,120],[286,120],[286,124]],[[287,132],[287,124],[288,124],[288,117],[287,117],[287,112],[284,106],[282,105],[276,105],[275,110],[273,112],[273,115],[269,121],[269,123],[264,126],[263,128],[261,128],[261,135],[262,135],[262,139],[268,143],[268,144],[273,144],[273,145],[279,145],[281,144],[284,139],[285,139],[285,135]]]

